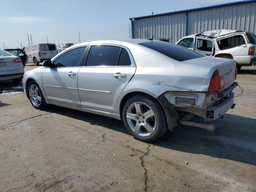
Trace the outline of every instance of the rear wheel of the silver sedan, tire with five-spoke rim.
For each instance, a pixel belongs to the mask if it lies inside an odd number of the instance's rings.
[[[122,120],[128,132],[143,142],[157,140],[167,130],[162,107],[157,100],[144,94],[132,96],[126,101]]]

